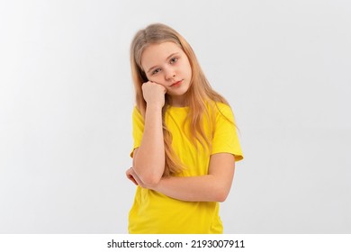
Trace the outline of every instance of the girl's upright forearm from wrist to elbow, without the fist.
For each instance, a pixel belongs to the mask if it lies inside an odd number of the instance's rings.
[[[156,184],[165,170],[165,146],[162,107],[149,105],[145,114],[144,133],[133,157],[133,169],[145,184]]]

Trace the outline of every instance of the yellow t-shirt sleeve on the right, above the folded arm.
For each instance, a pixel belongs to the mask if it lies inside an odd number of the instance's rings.
[[[238,141],[233,112],[225,104],[219,104],[218,108],[220,112],[216,114],[211,154],[231,153],[235,156],[235,160],[239,161],[243,159],[243,154]]]

